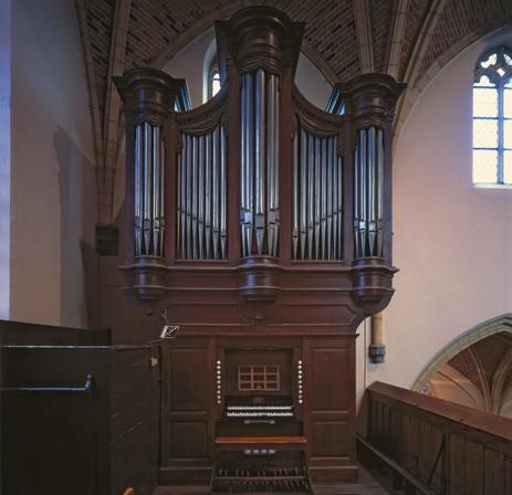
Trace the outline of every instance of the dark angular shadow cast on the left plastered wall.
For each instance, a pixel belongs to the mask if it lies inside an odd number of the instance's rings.
[[[94,249],[96,175],[70,136],[53,137],[61,197],[61,325],[98,328],[100,256]]]

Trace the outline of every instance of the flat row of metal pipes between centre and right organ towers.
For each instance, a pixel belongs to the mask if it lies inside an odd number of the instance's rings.
[[[342,166],[335,136],[300,128],[293,140],[294,260],[342,260]]]

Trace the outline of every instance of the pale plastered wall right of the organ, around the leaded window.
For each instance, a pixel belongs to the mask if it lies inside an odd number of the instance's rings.
[[[471,182],[471,85],[480,53],[512,35],[482,39],[420,95],[394,157],[396,294],[386,309],[387,356],[366,385],[410,388],[448,343],[512,308],[512,190]]]

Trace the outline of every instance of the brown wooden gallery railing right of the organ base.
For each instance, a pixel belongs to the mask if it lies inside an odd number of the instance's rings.
[[[512,420],[441,399],[372,385],[357,450],[365,467],[385,467],[406,494],[512,494]]]

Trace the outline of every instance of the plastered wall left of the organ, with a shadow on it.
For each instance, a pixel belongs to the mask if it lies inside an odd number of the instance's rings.
[[[84,326],[96,199],[75,3],[12,2],[11,319]]]

